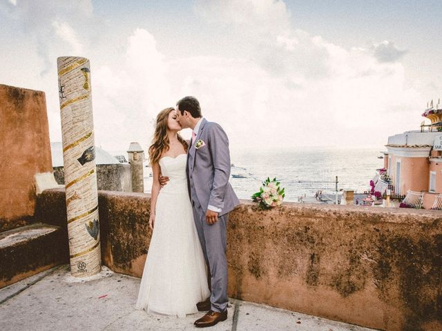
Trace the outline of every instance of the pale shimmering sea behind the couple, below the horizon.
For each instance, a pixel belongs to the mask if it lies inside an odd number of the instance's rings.
[[[262,182],[276,178],[285,188],[285,201],[308,201],[316,192],[338,194],[344,189],[363,193],[376,169],[383,168],[379,148],[305,147],[273,150],[231,150],[230,183],[238,198],[250,199]],[[144,192],[151,192],[151,168],[146,161]]]

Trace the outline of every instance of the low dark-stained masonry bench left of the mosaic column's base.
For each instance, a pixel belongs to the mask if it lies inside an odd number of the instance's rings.
[[[66,232],[35,223],[0,233],[0,288],[68,263]]]

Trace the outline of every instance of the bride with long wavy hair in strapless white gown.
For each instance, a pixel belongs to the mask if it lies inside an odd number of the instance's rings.
[[[177,315],[198,312],[196,303],[210,296],[206,265],[193,221],[186,177],[187,143],[174,108],[157,115],[149,147],[153,170],[151,216],[153,230],[136,308]],[[169,183],[160,187],[160,173]]]

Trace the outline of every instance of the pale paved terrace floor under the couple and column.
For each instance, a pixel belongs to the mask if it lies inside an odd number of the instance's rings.
[[[193,321],[135,310],[140,279],[111,272],[78,281],[60,265],[0,290],[0,330],[195,330]],[[230,300],[229,318],[211,331],[369,331],[356,325]]]

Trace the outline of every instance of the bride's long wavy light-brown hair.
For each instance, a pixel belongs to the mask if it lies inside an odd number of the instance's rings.
[[[169,137],[167,136],[167,119],[171,111],[175,110],[172,107],[163,109],[160,114],[157,114],[157,121],[155,123],[155,133],[153,134],[152,144],[149,147],[149,162],[154,165],[160,161],[163,152],[169,150]],[[177,134],[178,141],[182,143],[184,150],[187,152],[187,143],[182,139],[180,134]]]

